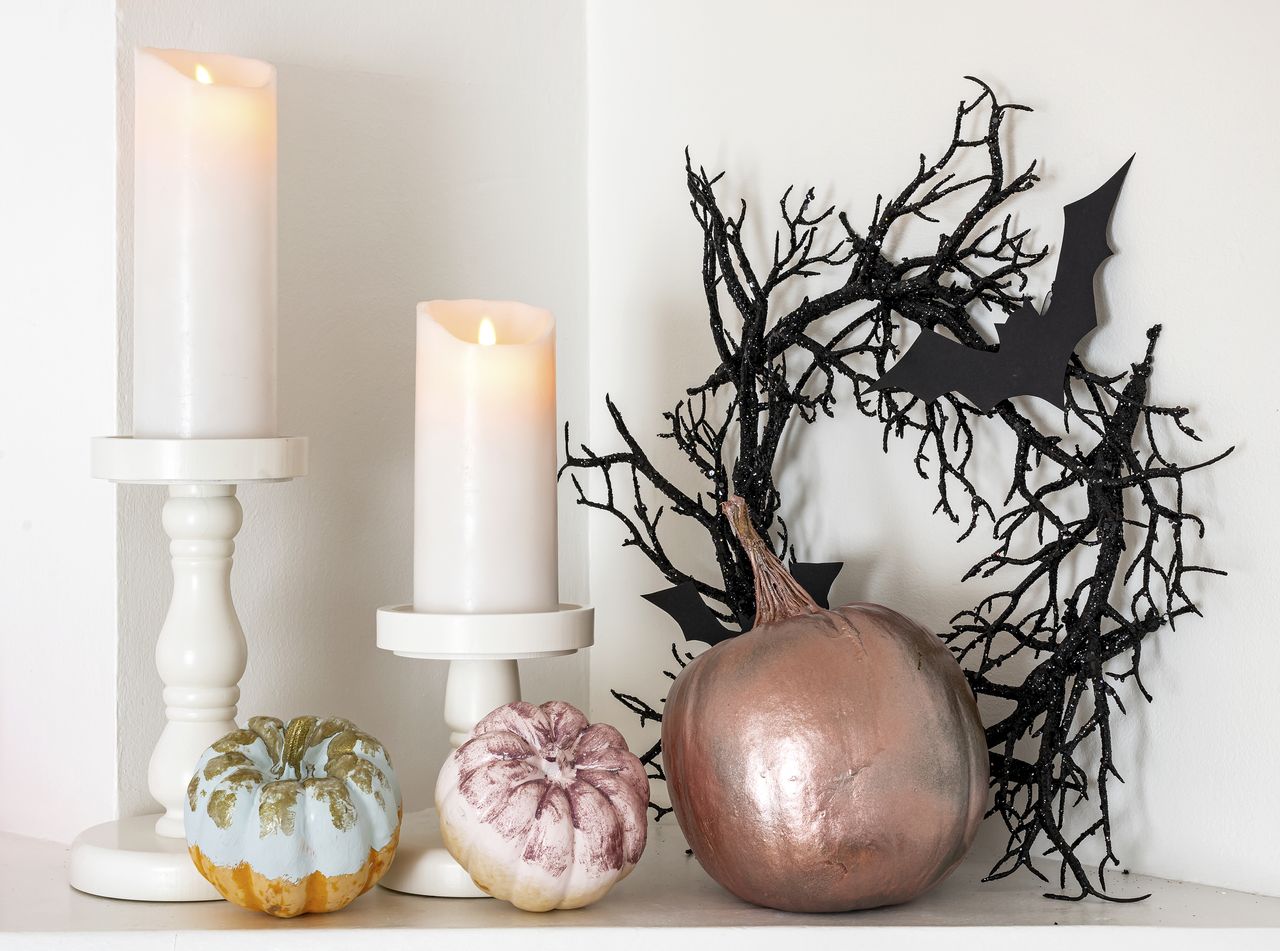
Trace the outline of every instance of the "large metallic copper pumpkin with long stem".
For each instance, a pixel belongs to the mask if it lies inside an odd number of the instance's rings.
[[[786,911],[909,901],[973,843],[987,744],[959,664],[878,604],[823,611],[724,506],[756,623],[676,680],[662,722],[680,828],[740,899]]]

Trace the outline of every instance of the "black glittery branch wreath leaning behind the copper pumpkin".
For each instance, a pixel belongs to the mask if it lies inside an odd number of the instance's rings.
[[[1012,314],[1028,301],[1028,271],[1048,253],[1029,247],[1029,232],[1014,228],[1005,211],[1038,180],[1034,163],[1006,173],[1001,140],[1007,114],[1029,110],[998,102],[988,86],[974,82],[979,93],[957,108],[947,147],[932,163],[922,155],[896,195],[879,196],[865,228],[835,207],[815,209],[812,189],[799,200],[788,191],[768,266],[748,253],[745,202],[726,211],[714,191],[721,177],[695,168],[686,152],[719,365],[664,413],[667,430],[659,435],[675,442],[682,466],[659,470],[607,397],[623,448],[575,452],[566,426],[562,472],[571,474],[581,504],[621,522],[623,545],[639,548],[672,585],[692,584],[718,618],[745,630],[755,613],[750,568],[719,503],[731,493],[746,498],[756,530],[776,552],[786,552],[773,481],[782,434],[794,419],[808,424],[833,416],[837,384],[850,393],[858,412],[881,425],[886,452],[897,440],[909,445],[915,471],[934,485],[934,511],[961,526],[960,539],[979,522],[992,525],[997,548],[966,577],[1001,572],[1011,579],[1007,591],[956,614],[941,635],[965,664],[974,691],[1001,708],[987,740],[992,813],[1004,822],[1009,846],[989,877],[1025,868],[1046,879],[1034,859],[1052,855],[1060,863],[1052,897],[1110,899],[1105,872],[1119,864],[1108,800],[1110,782],[1120,778],[1112,746],[1114,718],[1124,713],[1117,685],[1132,680],[1149,699],[1139,675],[1144,639],[1199,613],[1184,586],[1189,573],[1221,573],[1187,561],[1188,532],[1203,535],[1204,526],[1184,509],[1183,480],[1228,453],[1184,465],[1166,449],[1169,438],[1198,436],[1185,421],[1188,410],[1148,402],[1158,326],[1126,374],[1101,375],[1071,358],[1066,435],[1044,431],[1011,401],[982,412],[954,393],[925,402],[873,389],[899,353],[904,323],[992,349],[973,323],[975,310]],[[980,168],[961,174],[974,160]],[[895,257],[890,248],[913,220],[937,225],[937,244],[928,253]],[[817,275],[828,284],[833,275],[840,279],[790,310],[781,307],[794,285]],[[736,312],[732,321],[727,308]],[[827,320],[837,312],[849,316]],[[980,426],[1004,429],[1015,443],[1007,495],[995,503],[969,475]],[[603,497],[586,490],[581,471],[603,476]],[[677,488],[690,483],[704,488]],[[668,557],[659,531],[668,508],[705,531],[718,580],[692,579]],[[1076,511],[1084,515],[1068,515]],[[677,668],[691,657],[676,644],[672,655]],[[1028,664],[1030,672],[1019,680],[1018,669]],[[654,704],[613,695],[641,724],[660,722]],[[664,778],[660,745],[643,759],[653,778]],[[653,809],[658,818],[669,811]],[[1101,841],[1096,882],[1082,858],[1091,840]],[[1074,893],[1066,893],[1069,882]]]

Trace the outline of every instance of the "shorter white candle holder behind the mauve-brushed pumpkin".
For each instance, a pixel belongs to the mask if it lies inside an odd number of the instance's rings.
[[[433,614],[401,604],[379,608],[378,646],[398,657],[449,662],[444,723],[457,749],[486,713],[521,699],[517,660],[591,646],[594,613],[561,604],[531,614]],[[445,850],[435,809],[404,817],[396,860],[379,884],[411,895],[489,897]]]

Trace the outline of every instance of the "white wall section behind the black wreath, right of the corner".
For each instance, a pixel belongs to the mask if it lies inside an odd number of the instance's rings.
[[[714,365],[686,145],[709,169],[728,170],[722,195],[749,200],[762,248],[760,221],[772,227],[788,184],[817,186],[868,220],[877,191],[900,187],[920,151],[948,141],[955,104],[972,92],[965,74],[1037,110],[1010,123],[1011,151],[1016,163],[1043,159],[1044,182],[1016,205],[1018,220],[1047,242],[1057,242],[1064,202],[1138,154],[1114,219],[1119,255],[1100,282],[1105,325],[1085,353],[1123,370],[1146,328],[1162,321],[1153,397],[1194,407],[1204,448],[1192,457],[1239,449],[1188,483],[1210,529],[1193,554],[1231,576],[1198,584],[1204,619],[1160,632],[1144,651],[1156,703],[1130,703],[1117,739],[1132,779],[1114,787],[1117,849],[1135,870],[1270,893],[1280,893],[1270,794],[1280,782],[1280,641],[1270,626],[1275,555],[1263,540],[1280,529],[1266,489],[1280,466],[1271,438],[1280,398],[1262,381],[1276,342],[1266,255],[1280,212],[1277,29],[1280,10],[1266,3],[1166,3],[1156,15],[1153,4],[1088,0],[1064,15],[942,0],[659,0],[595,3],[588,14],[596,449],[611,447],[605,392],[652,436],[660,411]],[[801,557],[847,563],[837,600],[899,605],[934,630],[977,603],[982,589],[957,582],[991,543],[952,544],[956,531],[929,515],[934,498],[910,477],[902,445],[883,456],[874,424],[847,411],[794,436],[785,515]],[[998,475],[1007,447],[984,452]],[[657,731],[639,730],[609,689],[662,696],[675,626],[639,600],[663,584],[618,548],[614,525],[593,518],[590,538],[593,713],[626,724],[632,746],[646,749]]]

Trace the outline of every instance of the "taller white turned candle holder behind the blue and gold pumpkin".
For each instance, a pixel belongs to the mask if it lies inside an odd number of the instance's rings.
[[[230,589],[242,521],[236,485],[306,475],[307,440],[111,436],[93,440],[91,468],[113,483],[169,486],[173,599],[156,641],[168,719],[147,769],[147,788],[164,811],[82,832],[72,843],[70,883],[109,899],[220,899],[187,855],[182,800],[200,754],[236,730],[248,653]]]

